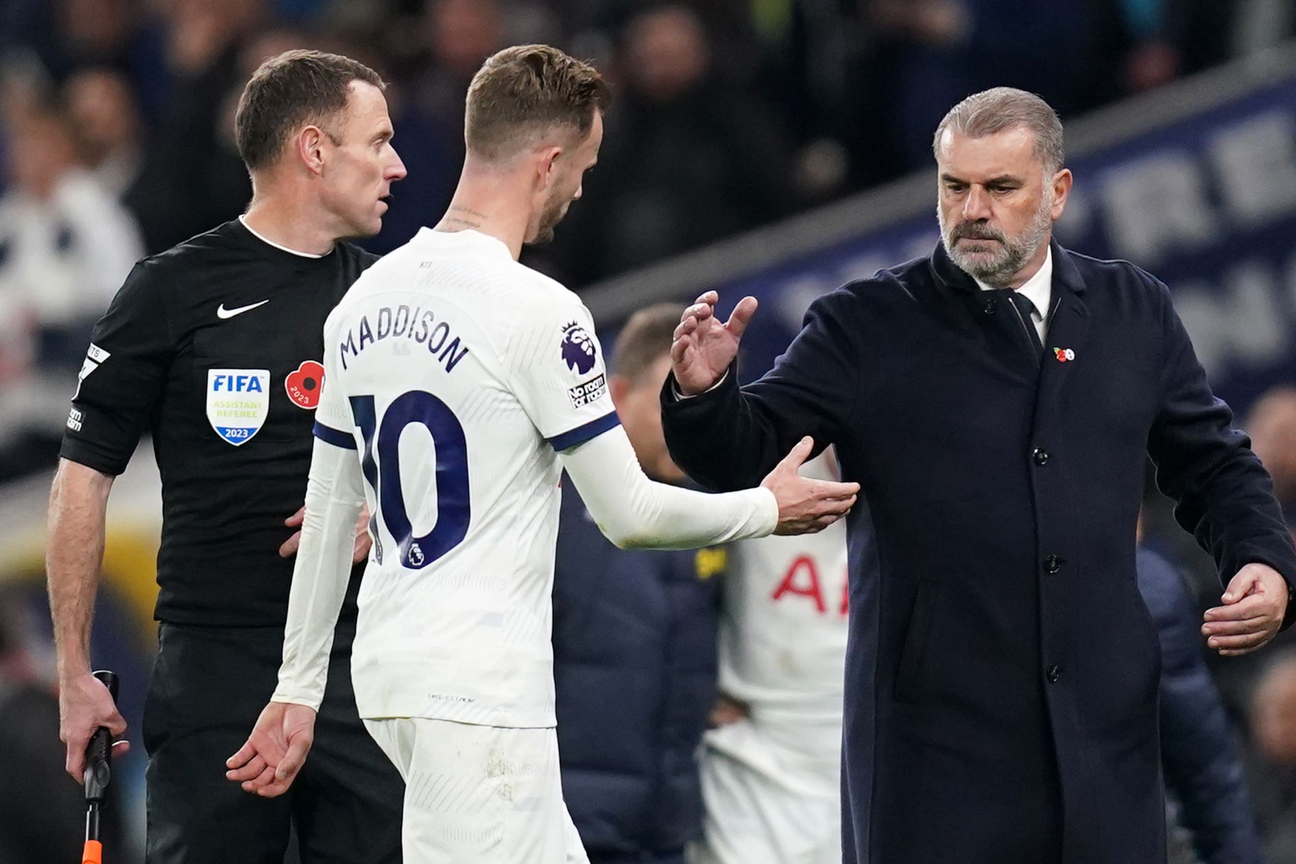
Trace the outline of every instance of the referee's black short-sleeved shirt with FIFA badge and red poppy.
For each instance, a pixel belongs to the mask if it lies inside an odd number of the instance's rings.
[[[279,547],[306,494],[324,319],[375,260],[298,255],[233,220],[136,264],[95,325],[61,455],[117,475],[152,433],[158,620],[284,624]]]

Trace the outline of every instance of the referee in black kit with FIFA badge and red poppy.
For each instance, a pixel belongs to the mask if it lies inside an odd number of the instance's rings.
[[[351,575],[310,766],[267,799],[226,780],[275,689],[306,491],[324,319],[375,256],[404,166],[384,83],[346,57],[266,61],[236,115],[246,214],[127,277],[95,326],[49,501],[47,570],[61,737],[80,777],[91,732],[126,728],[91,676],[88,639],[113,479],[148,430],[162,475],[158,654],[144,711],[149,864],[399,861],[403,786],[355,711]],[[356,557],[368,549],[358,538]]]

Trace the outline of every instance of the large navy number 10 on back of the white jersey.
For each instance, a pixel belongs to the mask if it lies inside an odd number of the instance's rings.
[[[454,412],[437,396],[424,390],[400,394],[378,422],[373,396],[351,396],[351,415],[364,437],[360,465],[364,479],[373,490],[377,512],[376,525],[381,525],[397,543],[400,563],[421,570],[442,557],[468,535],[470,516],[468,496],[468,442],[464,427]],[[435,446],[435,464],[410,465],[407,475],[435,474],[437,521],[428,534],[413,535],[400,486],[400,435],[411,424],[420,424],[432,435]],[[430,453],[429,453],[430,456]],[[375,531],[377,535],[377,531]],[[376,544],[380,551],[381,545]]]

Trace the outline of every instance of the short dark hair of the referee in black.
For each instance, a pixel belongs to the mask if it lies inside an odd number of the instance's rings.
[[[341,144],[330,123],[346,109],[356,80],[386,88],[364,63],[323,51],[285,51],[263,62],[244,87],[235,114],[235,141],[248,170],[272,166],[289,136],[306,123]]]

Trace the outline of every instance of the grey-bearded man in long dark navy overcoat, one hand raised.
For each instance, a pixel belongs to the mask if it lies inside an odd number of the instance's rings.
[[[816,301],[775,368],[731,368],[756,311],[686,310],[671,455],[715,488],[802,435],[851,514],[844,850],[868,864],[1165,860],[1160,652],[1134,534],[1144,453],[1227,588],[1222,654],[1283,623],[1296,553],[1165,286],[1052,241],[1072,174],[1043,100],[969,96],[933,142],[941,242]],[[866,591],[861,519],[880,576]]]

